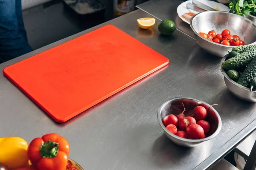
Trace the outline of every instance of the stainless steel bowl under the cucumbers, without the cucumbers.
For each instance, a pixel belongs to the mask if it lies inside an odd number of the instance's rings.
[[[227,76],[226,72],[222,68],[222,62],[224,62],[227,59],[228,55],[224,56],[223,59],[221,59],[221,72],[224,75],[224,81],[225,84],[227,85],[227,88],[237,97],[240,99],[249,101],[249,102],[256,102],[256,92],[255,91],[250,91],[249,88],[246,88],[242,85],[239,85],[230,77]]]

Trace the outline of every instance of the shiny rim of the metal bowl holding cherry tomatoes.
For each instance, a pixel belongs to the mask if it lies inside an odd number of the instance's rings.
[[[237,14],[233,14],[233,13],[226,12],[226,11],[204,11],[204,12],[211,12],[211,13],[228,13],[228,14],[232,14],[232,15],[237,15]],[[212,41],[210,41],[210,40],[208,40],[208,39],[202,37],[200,34],[198,34],[197,31],[195,31],[195,29],[194,29],[194,27],[193,27],[193,25],[192,25],[192,20],[193,20],[196,16],[198,16],[198,15],[204,13],[204,12],[200,12],[200,13],[198,13],[198,14],[195,14],[195,15],[191,18],[191,20],[190,20],[190,27],[191,27],[191,29],[194,31],[194,33],[197,34],[198,37],[200,37],[201,39],[207,40],[208,42],[210,42],[210,43],[212,43],[212,44],[220,45],[220,46],[223,46],[223,47],[232,47],[232,48],[235,47],[235,46],[233,46],[233,45],[217,44],[217,43],[215,43],[215,42],[212,42]],[[242,17],[241,15],[237,15],[237,16]],[[242,17],[242,18],[244,18],[245,20],[248,20],[249,22],[253,23],[253,21],[249,20],[248,18],[245,18],[245,17]],[[253,23],[253,25],[255,25],[255,23]],[[256,25],[255,25],[255,26],[256,26]],[[250,44],[254,44],[254,43],[255,43],[255,42],[250,43]]]

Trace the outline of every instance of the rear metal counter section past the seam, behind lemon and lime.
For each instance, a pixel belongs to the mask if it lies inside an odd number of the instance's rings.
[[[185,0],[150,0],[137,6],[137,8],[158,18],[159,20],[172,20],[176,28],[184,34],[194,38],[194,32],[188,23],[185,23],[177,14],[177,7]]]

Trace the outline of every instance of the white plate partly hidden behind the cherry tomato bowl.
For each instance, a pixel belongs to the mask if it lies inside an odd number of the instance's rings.
[[[228,7],[225,6],[222,3],[217,3],[214,1],[210,1],[210,0],[198,0],[201,3],[204,3],[205,5],[214,8],[215,6],[218,7],[219,11],[229,11]],[[198,14],[199,12],[193,11],[192,9],[188,9],[186,8],[186,4],[187,3],[192,3],[192,0],[187,0],[186,2],[181,3],[178,8],[177,8],[177,14],[180,17],[181,20],[183,20],[184,22],[189,23],[189,21],[187,21],[186,19],[184,19],[183,17],[181,17],[183,14],[188,13],[188,12],[193,12],[194,14]]]

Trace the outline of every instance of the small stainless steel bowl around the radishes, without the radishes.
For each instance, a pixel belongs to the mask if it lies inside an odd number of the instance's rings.
[[[178,115],[183,111],[183,105],[186,108],[186,111],[184,114],[186,116],[191,116],[193,109],[198,106],[204,106],[205,108],[209,108],[210,105],[206,102],[201,102],[197,99],[188,98],[188,97],[178,97],[174,99],[170,99],[167,102],[165,102],[158,110],[157,113],[157,119],[160,124],[160,126],[163,128],[164,133],[166,136],[171,139],[172,142],[174,142],[177,145],[183,146],[183,147],[196,147],[202,143],[204,143],[207,140],[210,140],[214,138],[221,130],[221,117],[218,114],[218,112],[210,107],[207,112],[207,117],[205,120],[207,120],[210,125],[211,129],[207,133],[206,138],[204,139],[185,139],[181,138],[179,136],[176,136],[175,134],[171,133],[169,130],[166,129],[166,127],[163,125],[163,118],[169,114]]]

